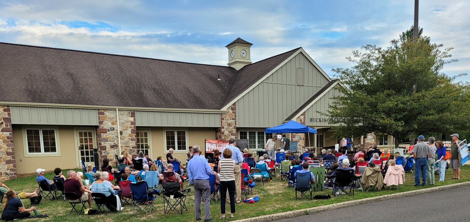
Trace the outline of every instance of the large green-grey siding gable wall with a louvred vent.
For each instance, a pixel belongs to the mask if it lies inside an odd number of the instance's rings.
[[[297,85],[297,68],[304,68],[304,85]],[[299,53],[236,102],[237,127],[280,125],[328,82],[308,58]]]

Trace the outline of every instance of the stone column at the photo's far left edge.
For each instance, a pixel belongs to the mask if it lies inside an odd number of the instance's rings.
[[[0,106],[0,180],[17,177],[10,107]]]

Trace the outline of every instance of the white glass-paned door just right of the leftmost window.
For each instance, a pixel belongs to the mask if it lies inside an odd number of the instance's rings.
[[[86,164],[94,164],[93,148],[96,146],[94,128],[76,128],[75,143],[78,157],[78,167],[82,166],[82,159]]]

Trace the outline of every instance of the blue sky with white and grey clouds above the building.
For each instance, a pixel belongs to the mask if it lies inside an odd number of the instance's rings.
[[[470,1],[419,10],[423,35],[459,60],[442,72],[470,74]],[[225,46],[240,37],[252,62],[302,47],[334,76],[353,50],[398,39],[413,13],[413,0],[1,0],[0,42],[227,65]]]

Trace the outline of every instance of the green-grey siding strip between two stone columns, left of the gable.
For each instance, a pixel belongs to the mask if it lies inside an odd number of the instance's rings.
[[[138,127],[220,127],[219,113],[136,111]]]

